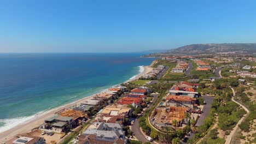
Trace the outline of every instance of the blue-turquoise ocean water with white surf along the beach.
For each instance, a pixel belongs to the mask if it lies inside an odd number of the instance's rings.
[[[0,132],[139,73],[143,53],[1,53]]]

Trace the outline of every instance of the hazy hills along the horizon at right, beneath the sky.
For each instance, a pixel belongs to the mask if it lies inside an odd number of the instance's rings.
[[[193,44],[168,50],[167,52],[154,53],[149,56],[165,55],[255,55],[256,43],[236,44]]]

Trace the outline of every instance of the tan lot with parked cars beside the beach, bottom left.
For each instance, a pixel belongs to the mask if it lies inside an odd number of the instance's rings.
[[[46,140],[46,143],[54,143],[54,141],[57,143],[59,142],[60,140],[60,137],[61,137],[61,134],[57,134],[57,133],[54,133],[54,135],[50,136],[50,135],[42,135],[42,132],[41,130],[35,130],[31,133],[31,135],[33,136],[40,136],[40,137],[44,137],[44,139]]]

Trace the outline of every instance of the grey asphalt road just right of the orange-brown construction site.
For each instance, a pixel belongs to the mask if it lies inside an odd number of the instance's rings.
[[[210,109],[211,109],[211,106],[212,106],[212,102],[213,102],[213,99],[214,99],[214,97],[212,97],[210,95],[203,95],[202,98],[205,99],[206,104],[205,104],[205,106],[203,106],[203,113],[199,117],[199,119],[197,120],[197,123],[195,125],[196,127],[202,125],[203,122],[205,121],[205,118],[209,115]]]

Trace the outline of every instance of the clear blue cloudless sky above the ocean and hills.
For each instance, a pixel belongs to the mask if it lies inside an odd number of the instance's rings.
[[[0,1],[0,52],[256,43],[256,1]]]

